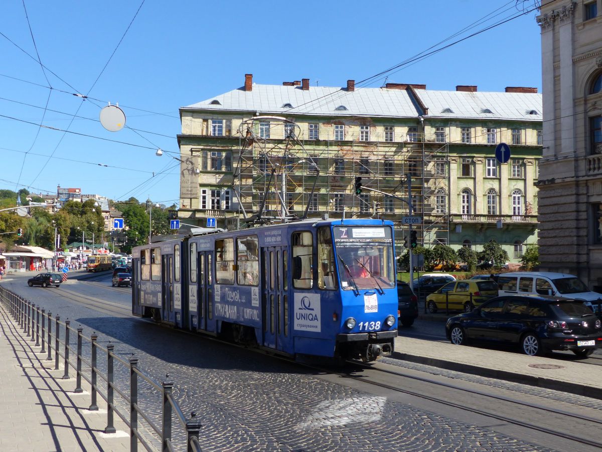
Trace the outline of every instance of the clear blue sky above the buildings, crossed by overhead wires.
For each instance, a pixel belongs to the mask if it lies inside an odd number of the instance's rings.
[[[533,8],[533,0],[146,0],[132,22],[141,0],[24,3],[26,13],[22,0],[0,2],[0,188],[16,190],[18,182],[34,193],[54,193],[61,185],[167,205],[179,197],[178,161],[168,153],[178,153],[179,107],[241,87],[245,73],[260,84],[357,83],[458,32],[445,43],[516,15],[517,8]],[[536,13],[403,66],[387,81],[541,92]],[[37,54],[49,70],[43,72]],[[99,112],[108,102],[120,105],[136,131],[102,128]],[[157,147],[167,152],[157,157]]]

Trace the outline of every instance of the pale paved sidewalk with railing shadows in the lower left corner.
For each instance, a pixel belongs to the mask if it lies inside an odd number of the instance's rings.
[[[17,328],[18,327],[18,328]],[[76,394],[75,372],[63,380],[64,368],[40,353],[0,306],[0,450],[126,451],[129,429],[115,416],[117,433],[107,435],[107,405],[98,397],[90,411],[90,386]],[[54,358],[54,350],[52,350]]]

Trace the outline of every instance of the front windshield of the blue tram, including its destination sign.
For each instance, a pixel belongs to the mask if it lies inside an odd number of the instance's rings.
[[[393,235],[389,226],[335,226],[341,289],[395,287]]]

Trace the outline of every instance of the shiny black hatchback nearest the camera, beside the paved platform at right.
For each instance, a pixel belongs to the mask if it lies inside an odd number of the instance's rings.
[[[580,300],[553,296],[495,297],[445,324],[452,344],[468,339],[520,344],[529,355],[571,350],[589,356],[602,346],[600,319]]]

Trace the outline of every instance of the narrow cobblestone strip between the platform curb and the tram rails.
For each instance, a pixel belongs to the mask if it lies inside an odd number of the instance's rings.
[[[504,380],[481,377],[478,375],[465,374],[462,372],[442,369],[426,364],[402,361],[400,359],[383,358],[382,362],[397,367],[403,367],[405,369],[429,373],[432,375],[444,376],[455,380],[462,380],[464,382],[478,383],[479,385],[485,385],[491,388],[507,389],[509,391],[520,392],[521,394],[535,395],[547,400],[556,400],[577,406],[602,410],[602,401],[598,400],[597,398],[584,397],[583,395],[569,394],[568,392],[554,391],[553,389],[538,388],[536,386],[521,385],[521,383],[513,383]]]

